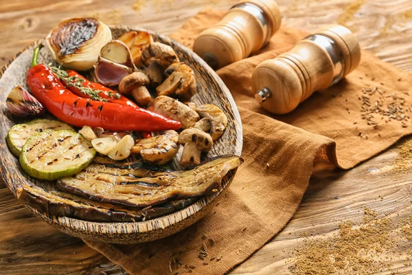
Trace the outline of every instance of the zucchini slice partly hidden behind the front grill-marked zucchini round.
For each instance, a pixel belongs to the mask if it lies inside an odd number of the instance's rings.
[[[45,119],[37,119],[23,124],[16,124],[12,126],[8,132],[7,144],[13,155],[18,157],[20,155],[21,148],[30,137],[43,131],[58,130],[73,130],[73,128],[57,120]]]

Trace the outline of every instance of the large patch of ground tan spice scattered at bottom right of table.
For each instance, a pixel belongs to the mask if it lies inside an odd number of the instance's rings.
[[[377,216],[375,211],[365,208],[361,225],[344,221],[339,225],[339,232],[332,237],[304,239],[296,252],[295,262],[289,268],[290,273],[374,274],[387,268],[381,256],[393,246],[391,220]]]

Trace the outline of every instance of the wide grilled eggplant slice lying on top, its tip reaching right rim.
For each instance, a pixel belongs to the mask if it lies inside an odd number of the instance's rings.
[[[133,207],[156,206],[172,199],[199,197],[216,192],[222,178],[242,164],[238,156],[211,159],[192,170],[154,173],[136,178],[126,171],[106,173],[104,168],[93,171],[95,166],[58,181],[58,188],[83,197],[106,203]]]

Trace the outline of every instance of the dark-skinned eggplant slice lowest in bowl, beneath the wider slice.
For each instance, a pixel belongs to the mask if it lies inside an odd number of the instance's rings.
[[[133,210],[110,203],[92,201],[67,192],[45,190],[37,186],[21,186],[16,190],[17,199],[27,206],[54,216],[64,216],[86,221],[128,221],[135,222],[179,211],[196,199],[170,201],[155,208]]]

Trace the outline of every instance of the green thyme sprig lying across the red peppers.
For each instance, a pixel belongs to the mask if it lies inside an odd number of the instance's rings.
[[[69,76],[67,72],[63,69],[60,69],[58,67],[54,66],[49,66],[50,70],[56,74],[56,76],[60,79],[65,81],[66,85],[69,87],[75,87],[78,89],[82,94],[88,95],[92,100],[98,100],[98,101],[103,101],[107,102],[108,100],[106,98],[102,98],[100,96],[100,93],[104,93],[106,96],[109,98],[116,98],[119,99],[120,95],[117,93],[113,93],[111,91],[102,91],[99,89],[93,89],[91,87],[84,87],[84,79],[82,78],[76,78],[76,76]]]

